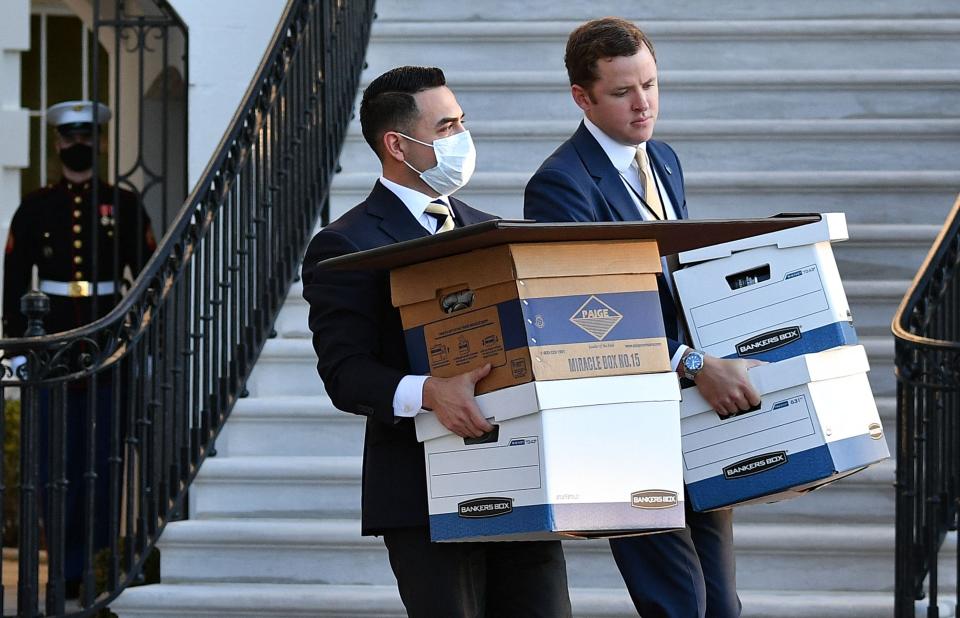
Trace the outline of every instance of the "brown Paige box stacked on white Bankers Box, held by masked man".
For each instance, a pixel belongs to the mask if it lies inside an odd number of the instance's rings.
[[[494,431],[416,418],[434,541],[683,527],[659,272],[653,241],[505,244],[392,271],[414,372],[492,365],[477,403]]]

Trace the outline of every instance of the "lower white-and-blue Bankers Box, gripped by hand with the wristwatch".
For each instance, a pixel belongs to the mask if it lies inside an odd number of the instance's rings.
[[[785,500],[889,457],[869,368],[863,346],[753,367],[760,409],[727,419],[696,388],[684,389],[683,476],[693,508]]]

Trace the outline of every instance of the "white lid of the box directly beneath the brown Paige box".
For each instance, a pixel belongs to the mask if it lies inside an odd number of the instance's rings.
[[[679,399],[677,374],[670,371],[571,380],[534,380],[480,395],[477,405],[488,421],[498,423],[540,410]],[[414,420],[417,440],[420,442],[452,433],[432,412],[420,412]]]

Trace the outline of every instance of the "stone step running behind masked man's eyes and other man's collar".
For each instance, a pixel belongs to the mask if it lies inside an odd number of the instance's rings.
[[[958,39],[960,40],[960,39]],[[483,172],[533,172],[576,130],[579,118],[554,121],[470,120]],[[656,138],[669,143],[685,173],[925,171],[960,159],[960,119],[935,120],[663,120]],[[903,157],[903,140],[918,142]],[[922,146],[922,147],[921,147]],[[743,153],[732,156],[731,153]],[[351,127],[340,165],[347,172],[379,169],[376,155]]]

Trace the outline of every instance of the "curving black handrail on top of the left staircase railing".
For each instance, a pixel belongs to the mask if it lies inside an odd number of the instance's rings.
[[[267,82],[269,71],[275,68],[274,63],[276,62],[277,56],[283,52],[283,49],[277,43],[283,37],[283,33],[292,25],[292,9],[295,4],[292,0],[288,0],[284,6],[277,28],[270,37],[270,43],[241,99],[242,105],[234,112],[230,123],[227,125],[227,129],[223,132],[216,149],[213,151],[214,155],[207,162],[200,176],[200,180],[197,181],[193,190],[187,196],[186,200],[184,200],[180,211],[174,218],[174,222],[157,244],[157,249],[153,252],[153,255],[147,261],[146,265],[144,265],[143,270],[137,276],[128,293],[124,295],[123,299],[105,316],[88,324],[84,324],[83,326],[38,337],[0,339],[0,349],[6,351],[7,356],[10,356],[11,352],[16,353],[33,348],[55,348],[58,347],[59,344],[66,344],[77,338],[93,335],[110,326],[116,325],[126,317],[126,314],[130,310],[134,309],[135,305],[143,301],[143,298],[151,289],[153,278],[160,274],[163,268],[163,262],[173,257],[177,241],[180,240],[185,229],[191,225],[191,214],[195,210],[196,205],[200,202],[201,197],[207,197],[208,191],[212,190],[212,185],[218,177],[218,172],[221,170],[224,160],[231,154],[228,146],[235,143],[237,137],[239,137],[240,133],[244,130],[244,121],[256,105],[256,99],[253,97],[253,94]],[[179,16],[177,16],[177,19],[179,19]],[[253,127],[251,127],[251,130],[253,130]],[[142,333],[143,328],[144,327],[141,326],[138,332],[131,337],[129,340],[131,343],[136,341],[139,334]],[[121,356],[112,359],[108,363],[98,365],[90,371],[101,371],[108,368],[111,364],[119,360]],[[78,375],[85,374],[75,373],[69,377],[77,377]],[[56,378],[56,380],[60,379],[62,378]]]

